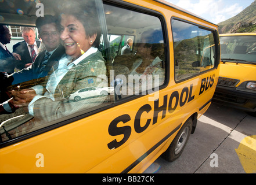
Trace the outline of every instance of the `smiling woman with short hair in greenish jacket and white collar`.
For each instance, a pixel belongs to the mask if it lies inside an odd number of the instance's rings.
[[[72,2],[66,3],[62,8],[60,39],[63,40],[67,56],[59,61],[56,71],[49,76],[45,87],[48,91],[43,96],[34,97],[28,105],[30,114],[38,119],[53,121],[100,105],[106,99],[96,97],[82,103],[60,101],[81,88],[107,87],[104,58],[102,53],[93,47],[99,45],[100,39],[98,16],[95,15],[93,4],[93,1],[82,5]],[[75,13],[70,9],[75,9]],[[83,24],[82,20],[86,20],[86,24]],[[93,29],[89,26],[93,26]]]

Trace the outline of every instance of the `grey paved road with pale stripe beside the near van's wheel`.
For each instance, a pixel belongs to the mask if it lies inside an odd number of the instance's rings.
[[[254,150],[237,150],[240,157],[235,150],[243,146],[240,142],[244,138],[253,135],[256,117],[212,103],[198,120],[181,157],[174,162],[159,157],[145,173],[256,173],[256,138],[249,140]],[[247,164],[243,157],[249,160]]]

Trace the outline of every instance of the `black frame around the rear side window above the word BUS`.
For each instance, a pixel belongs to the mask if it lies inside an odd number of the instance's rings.
[[[194,77],[197,77],[197,76],[200,76],[200,75],[203,75],[204,73],[207,73],[207,72],[209,72],[209,71],[212,71],[212,70],[214,70],[214,69],[217,69],[218,68],[218,65],[219,65],[219,59],[220,59],[220,53],[219,53],[219,39],[218,39],[218,32],[217,32],[217,30],[215,30],[215,29],[211,29],[211,28],[208,28],[208,27],[204,27],[203,25],[200,25],[200,24],[196,24],[196,23],[193,23],[192,21],[188,21],[188,20],[185,20],[185,19],[182,19],[182,18],[179,18],[179,17],[175,17],[175,16],[172,16],[171,17],[171,23],[172,23],[172,20],[177,20],[177,21],[181,21],[181,22],[183,22],[183,23],[187,23],[187,24],[191,24],[191,25],[195,25],[195,26],[197,26],[198,28],[200,28],[200,29],[204,29],[204,30],[206,30],[206,31],[210,31],[210,32],[212,32],[212,34],[213,34],[213,37],[214,37],[214,43],[215,43],[215,64],[214,64],[214,66],[211,68],[211,69],[207,69],[207,70],[205,70],[205,71],[202,71],[202,72],[200,72],[200,73],[196,73],[195,75],[192,75],[192,76],[190,76],[190,77],[186,77],[186,78],[184,78],[184,79],[181,79],[181,80],[176,80],[175,79],[175,60],[173,60],[173,64],[174,64],[174,82],[176,83],[176,84],[178,84],[178,83],[182,83],[182,82],[185,82],[186,80],[189,80],[189,79],[192,79],[192,78],[194,78]],[[171,24],[171,32],[172,32],[172,40],[174,39],[174,36],[173,36],[173,28],[172,28],[172,24]],[[174,53],[174,42],[172,43],[172,47],[173,47],[173,53]],[[174,59],[174,58],[173,58]]]

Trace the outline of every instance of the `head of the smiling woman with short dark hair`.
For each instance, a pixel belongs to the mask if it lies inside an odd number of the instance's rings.
[[[62,8],[60,25],[60,38],[69,56],[78,58],[92,46],[99,46],[101,34],[93,3],[86,6],[77,2],[66,3]]]

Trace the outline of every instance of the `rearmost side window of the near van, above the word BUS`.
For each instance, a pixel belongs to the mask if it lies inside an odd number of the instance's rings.
[[[214,68],[215,44],[211,31],[172,19],[175,80],[183,80]]]

